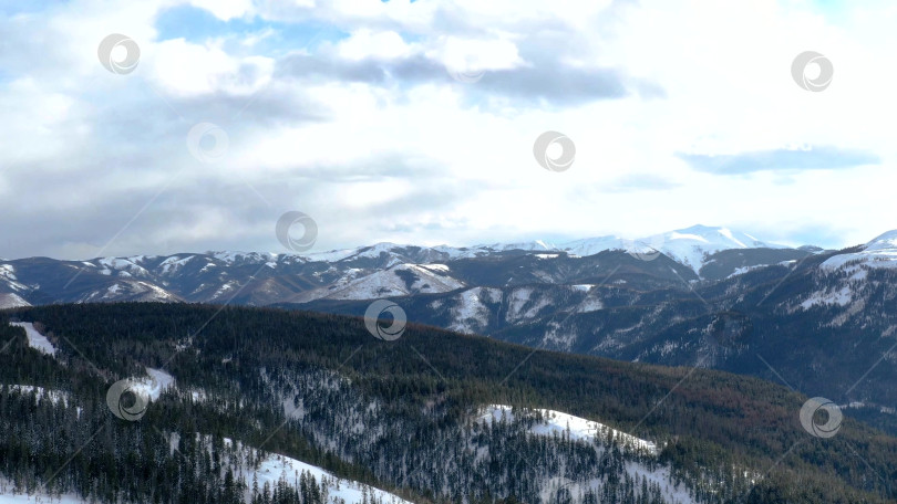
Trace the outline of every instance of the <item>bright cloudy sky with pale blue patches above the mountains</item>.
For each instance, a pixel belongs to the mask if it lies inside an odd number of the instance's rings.
[[[286,212],[310,253],[864,243],[897,228],[894,25],[877,0],[0,0],[0,256],[288,252]]]

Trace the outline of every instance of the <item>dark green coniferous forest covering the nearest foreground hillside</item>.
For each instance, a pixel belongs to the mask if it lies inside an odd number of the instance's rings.
[[[34,323],[56,354],[30,348],[10,321]],[[398,498],[369,489],[471,504],[897,500],[897,439],[849,416],[837,435],[810,435],[805,397],[720,371],[420,325],[385,342],[358,317],[204,305],[17,308],[0,314],[0,493],[323,503],[354,481],[364,503]],[[117,418],[110,387],[147,368],[175,385],[137,421]],[[487,422],[489,405],[513,410]],[[543,409],[608,429],[536,435]],[[260,482],[276,455],[333,476]]]

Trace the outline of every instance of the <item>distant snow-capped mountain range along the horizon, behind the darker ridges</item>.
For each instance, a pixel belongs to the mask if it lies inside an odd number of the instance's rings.
[[[887,259],[894,243],[877,240],[855,252],[856,258],[843,260]],[[710,281],[818,251],[783,246],[726,228],[694,225],[640,239],[599,237],[561,244],[533,241],[454,248],[378,243],[308,255],[207,252],[89,261],[31,258],[0,261],[0,308],[117,301],[268,305],[440,294],[477,286],[588,283],[582,277],[601,254],[637,260],[626,264],[630,273],[658,270],[654,275],[670,276],[673,271],[688,281]],[[664,260],[651,264],[660,255]],[[672,263],[672,270],[658,267],[667,263]]]

